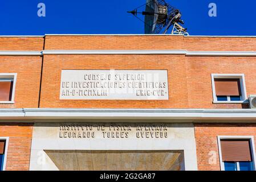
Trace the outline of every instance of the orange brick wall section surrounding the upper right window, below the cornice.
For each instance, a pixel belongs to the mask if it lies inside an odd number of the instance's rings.
[[[256,94],[256,57],[188,56],[186,70],[188,78],[189,108],[241,109],[242,104],[213,104],[212,73],[245,74],[247,98]],[[172,79],[170,78],[170,81]]]

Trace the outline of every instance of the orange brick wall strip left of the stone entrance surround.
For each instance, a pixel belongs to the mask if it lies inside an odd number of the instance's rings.
[[[32,123],[0,123],[0,137],[9,137],[6,171],[29,170]]]

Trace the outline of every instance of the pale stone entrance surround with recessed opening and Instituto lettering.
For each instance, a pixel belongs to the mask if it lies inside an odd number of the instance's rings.
[[[30,170],[197,170],[193,123],[111,122],[36,122]]]

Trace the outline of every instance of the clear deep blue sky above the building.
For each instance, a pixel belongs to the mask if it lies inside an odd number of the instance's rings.
[[[166,0],[181,10],[190,35],[256,35],[255,0]],[[38,3],[46,17],[38,17]],[[217,17],[208,5],[217,5]],[[127,11],[145,0],[1,0],[0,35],[143,34],[144,25]]]

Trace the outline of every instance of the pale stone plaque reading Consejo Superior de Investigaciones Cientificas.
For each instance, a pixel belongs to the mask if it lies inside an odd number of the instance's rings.
[[[63,70],[60,100],[168,100],[166,70]]]

